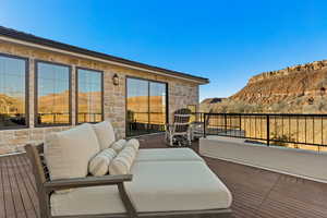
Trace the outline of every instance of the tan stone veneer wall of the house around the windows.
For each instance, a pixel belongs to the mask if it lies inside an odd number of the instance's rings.
[[[73,56],[46,51],[38,48],[0,41],[0,53],[9,53],[29,59],[29,128],[0,131],[0,154],[21,152],[26,143],[41,143],[46,134],[68,130],[71,126],[34,126],[34,63],[35,60],[59,62],[72,66],[72,99],[75,99],[76,66],[104,71],[104,109],[105,120],[110,119],[118,138],[125,137],[125,77],[136,76],[154,81],[167,82],[169,94],[170,121],[172,112],[187,105],[198,106],[198,85],[183,80],[160,76],[129,68],[117,66],[104,62],[82,59]],[[120,84],[112,84],[112,76],[119,75]],[[72,122],[75,123],[75,100],[72,100]]]

